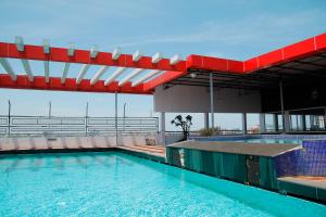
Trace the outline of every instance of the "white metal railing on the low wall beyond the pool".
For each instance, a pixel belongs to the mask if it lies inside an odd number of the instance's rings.
[[[120,133],[158,133],[156,117],[117,117]],[[0,115],[0,136],[109,135],[115,133],[115,117],[57,117]]]

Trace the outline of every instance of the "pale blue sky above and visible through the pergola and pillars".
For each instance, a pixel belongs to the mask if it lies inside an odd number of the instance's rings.
[[[78,49],[97,44],[111,52],[121,47],[125,53],[140,50],[146,55],[162,52],[213,55],[247,60],[271,50],[325,33],[325,0],[0,0],[0,41],[13,42],[22,36],[25,43]],[[15,72],[23,72],[14,60]],[[32,62],[35,75],[41,75],[41,63]],[[51,76],[61,76],[63,66],[51,63]],[[70,77],[80,65],[74,65]],[[90,78],[97,71],[86,75]],[[0,71],[3,71],[0,66]],[[106,76],[110,72],[106,72]],[[15,115],[82,116],[89,103],[90,116],[113,116],[114,94],[0,89],[0,115],[8,113],[8,100]],[[158,116],[150,95],[118,94],[118,111],[127,103],[127,116]],[[166,122],[176,114],[167,114]],[[203,115],[192,114],[195,129],[203,127]],[[239,114],[216,115],[222,128],[240,128]],[[249,126],[258,116],[249,117]],[[174,130],[166,125],[167,130]]]

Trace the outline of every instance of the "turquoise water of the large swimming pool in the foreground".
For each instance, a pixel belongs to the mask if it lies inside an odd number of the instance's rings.
[[[0,156],[0,216],[326,216],[326,206],[117,152]]]

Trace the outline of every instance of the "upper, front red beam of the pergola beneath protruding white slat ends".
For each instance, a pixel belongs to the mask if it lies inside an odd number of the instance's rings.
[[[50,48],[50,53],[43,52],[42,46],[24,46],[24,51],[18,51],[15,43],[0,42],[0,58],[26,59],[35,61],[68,62],[93,65],[106,65],[131,68],[146,68],[158,71],[186,71],[186,61],[180,61],[175,65],[170,64],[170,59],[162,59],[158,63],[152,63],[151,56],[141,56],[138,61],[133,61],[131,54],[121,54],[117,60],[112,59],[112,53],[98,52],[96,58],[90,58],[90,51],[74,50],[74,55],[68,55],[66,48]]]

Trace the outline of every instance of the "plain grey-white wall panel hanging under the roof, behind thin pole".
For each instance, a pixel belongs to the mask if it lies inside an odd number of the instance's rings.
[[[210,112],[210,92],[206,87],[174,86],[158,87],[154,92],[155,112]],[[215,88],[214,111],[216,113],[260,113],[261,93],[238,89]]]

